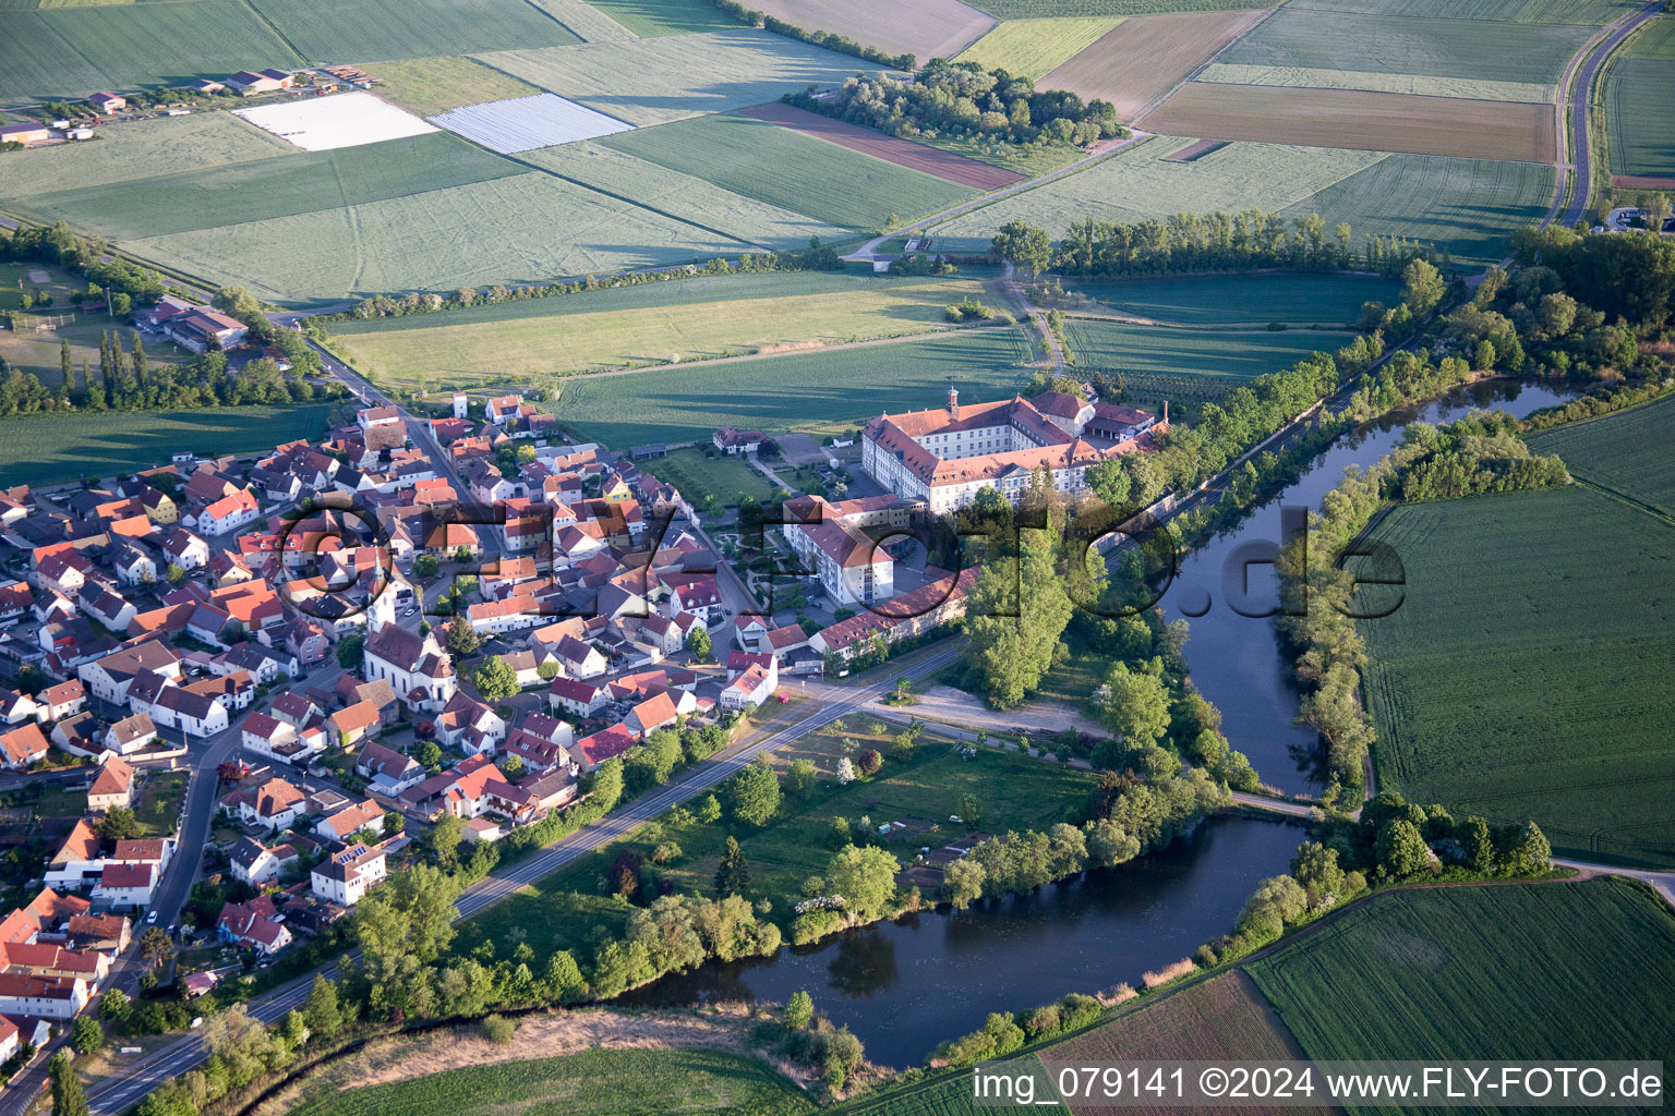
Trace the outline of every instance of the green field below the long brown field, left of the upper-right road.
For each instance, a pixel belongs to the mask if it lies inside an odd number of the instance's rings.
[[[1318,212],[1327,228],[1347,221],[1368,233],[1402,236],[1447,253],[1456,264],[1487,266],[1506,256],[1519,226],[1539,221],[1553,201],[1553,167],[1489,159],[1390,156],[1285,211]]]

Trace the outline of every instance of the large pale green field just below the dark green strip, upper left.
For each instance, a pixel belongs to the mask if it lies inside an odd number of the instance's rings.
[[[286,251],[275,253],[275,244]],[[307,301],[685,263],[735,253],[739,244],[529,172],[126,248],[211,284]]]

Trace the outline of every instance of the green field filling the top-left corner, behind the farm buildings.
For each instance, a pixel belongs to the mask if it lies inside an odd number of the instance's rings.
[[[303,62],[243,0],[13,10],[0,35],[0,104]]]

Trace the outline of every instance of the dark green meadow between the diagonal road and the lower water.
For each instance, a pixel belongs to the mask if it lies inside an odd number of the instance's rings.
[[[884,726],[884,731],[874,733],[878,726]],[[886,748],[889,735],[899,731],[899,726],[884,721],[874,724],[866,716],[849,718],[846,728],[843,736],[853,738],[858,750]],[[789,907],[799,898],[802,882],[824,872],[831,860],[832,817],[851,822],[869,818],[873,825],[913,818],[938,825],[935,832],[908,830],[888,838],[884,847],[906,862],[920,847],[943,845],[973,828],[998,833],[1047,828],[1062,822],[1067,810],[1079,808],[1094,785],[1094,776],[1087,771],[1015,753],[983,748],[965,760],[948,741],[933,740],[926,733],[911,760],[884,760],[883,770],[871,780],[838,786],[832,771],[843,755],[843,736],[821,729],[774,756],[781,768],[794,758],[814,760],[822,781],[806,801],[787,796],[781,817],[767,827],[729,830],[725,825],[695,820],[675,825],[663,817],[536,880],[472,919],[462,927],[454,944],[456,952],[471,952],[484,939],[502,944],[514,927],[526,932],[538,957],[546,957],[554,949],[588,952],[591,925],[606,925],[616,932],[630,912],[626,900],[603,895],[600,885],[606,867],[625,847],[648,853],[662,842],[678,843],[682,857],[660,872],[673,880],[677,890],[710,893],[715,867],[732,832],[750,863],[752,897],[770,898],[776,915],[789,920]],[[968,813],[966,795],[975,796],[982,806],[977,827],[946,820],[951,813]]]

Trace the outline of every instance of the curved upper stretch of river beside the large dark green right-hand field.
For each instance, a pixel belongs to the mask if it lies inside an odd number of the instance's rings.
[[[1228,606],[1223,584],[1228,559],[1258,540],[1280,542],[1280,512],[1285,507],[1320,510],[1322,497],[1343,479],[1348,465],[1372,465],[1402,440],[1407,423],[1422,420],[1447,423],[1476,407],[1509,412],[1523,418],[1543,407],[1574,398],[1574,392],[1516,380],[1486,380],[1457,388],[1444,398],[1415,410],[1405,410],[1338,438],[1330,450],[1313,460],[1280,495],[1258,505],[1224,532],[1181,561],[1179,572],[1162,596],[1167,616],[1188,616],[1193,637],[1186,659],[1193,683],[1221,709],[1221,731],[1243,751],[1261,780],[1283,791],[1315,795],[1322,790],[1315,775],[1318,738],[1293,723],[1296,691],[1286,673],[1273,621],[1241,616]],[[1238,562],[1231,567],[1236,571]],[[1251,566],[1250,586],[1240,607],[1265,612],[1278,607],[1278,587],[1271,566]],[[1236,577],[1236,574],[1234,574]],[[1208,611],[1204,611],[1208,607]]]

